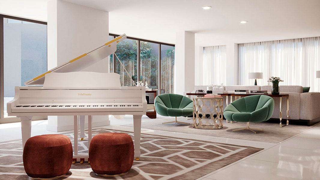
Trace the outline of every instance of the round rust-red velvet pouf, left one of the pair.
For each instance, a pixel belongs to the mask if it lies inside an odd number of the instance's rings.
[[[23,149],[23,166],[33,179],[58,178],[67,174],[72,163],[72,145],[65,135],[30,137]]]

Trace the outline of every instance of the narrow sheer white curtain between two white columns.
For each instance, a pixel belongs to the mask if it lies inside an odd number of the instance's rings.
[[[203,64],[199,71],[202,85],[226,84],[226,60],[226,45],[204,47]]]

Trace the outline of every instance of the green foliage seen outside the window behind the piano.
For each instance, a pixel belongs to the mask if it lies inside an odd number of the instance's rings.
[[[126,39],[117,44],[116,55],[128,73],[115,57],[115,72],[120,74],[122,86],[135,86],[137,82],[137,46],[138,41]],[[148,82],[149,88],[158,87],[158,57],[152,53],[151,43],[140,41],[140,81]],[[174,47],[161,54],[161,93],[173,93]],[[110,56],[110,72],[112,72],[112,55]],[[134,83],[132,82],[132,80]]]

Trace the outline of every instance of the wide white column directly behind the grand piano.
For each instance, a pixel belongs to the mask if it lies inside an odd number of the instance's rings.
[[[108,42],[108,18],[108,12],[106,11],[62,0],[49,1],[48,69]],[[108,73],[108,69],[108,58],[105,58],[83,71]],[[72,116],[49,116],[48,119],[47,130],[64,131],[73,129]],[[87,116],[85,121],[85,127],[87,127]],[[108,116],[92,117],[93,127],[109,124]]]

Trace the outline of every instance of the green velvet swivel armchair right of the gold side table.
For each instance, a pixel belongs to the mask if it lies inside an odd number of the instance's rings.
[[[275,103],[273,98],[266,95],[252,95],[237,99],[229,104],[223,112],[223,116],[229,121],[247,122],[247,127],[234,129],[233,131],[249,129],[256,133],[254,129],[249,128],[249,122],[263,122],[270,119],[273,113]]]

